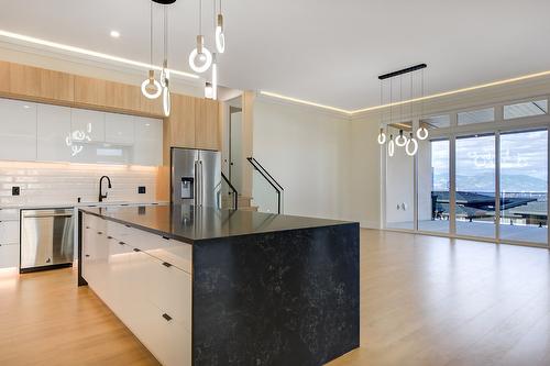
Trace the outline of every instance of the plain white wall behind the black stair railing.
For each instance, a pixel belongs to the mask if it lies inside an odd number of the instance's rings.
[[[285,188],[286,214],[351,219],[350,132],[343,118],[256,98],[254,157]]]

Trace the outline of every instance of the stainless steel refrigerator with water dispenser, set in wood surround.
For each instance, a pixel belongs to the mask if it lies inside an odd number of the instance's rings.
[[[220,208],[221,154],[172,148],[172,203]]]

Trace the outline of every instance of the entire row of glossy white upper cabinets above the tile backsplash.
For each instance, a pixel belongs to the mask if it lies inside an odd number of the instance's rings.
[[[163,121],[0,98],[0,160],[160,166]]]

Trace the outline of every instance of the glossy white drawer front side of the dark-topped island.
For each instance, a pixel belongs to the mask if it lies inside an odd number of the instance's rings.
[[[166,366],[191,365],[191,246],[82,213],[82,277]]]

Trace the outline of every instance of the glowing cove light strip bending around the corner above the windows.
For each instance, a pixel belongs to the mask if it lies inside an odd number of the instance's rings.
[[[468,88],[462,88],[462,89],[455,89],[455,90],[450,90],[450,91],[444,91],[444,92],[438,92],[438,93],[426,96],[426,97],[414,98],[414,99],[403,100],[403,101],[399,101],[399,102],[381,104],[381,106],[369,107],[369,108],[356,109],[356,110],[345,110],[345,109],[341,109],[341,108],[324,106],[324,104],[320,104],[320,103],[316,103],[316,102],[311,102],[311,101],[307,101],[307,100],[302,100],[302,99],[297,99],[297,98],[292,98],[292,97],[286,97],[286,96],[277,95],[277,93],[270,92],[270,91],[263,91],[262,90],[262,91],[260,91],[260,93],[263,95],[263,96],[267,96],[267,97],[272,97],[272,98],[277,98],[277,99],[283,99],[283,100],[292,101],[292,102],[295,102],[295,103],[318,107],[318,108],[322,108],[322,109],[327,109],[327,110],[331,110],[331,111],[344,113],[344,114],[348,114],[348,115],[354,115],[354,114],[358,114],[358,113],[376,111],[376,110],[385,109],[385,108],[389,108],[389,107],[403,106],[403,104],[415,103],[415,102],[419,102],[419,101],[424,101],[424,100],[430,100],[430,99],[436,99],[436,98],[441,98],[441,97],[453,96],[453,95],[458,95],[458,93],[461,93],[461,92],[473,91],[473,90],[484,89],[484,88],[490,88],[490,87],[496,87],[496,86],[499,86],[499,85],[505,85],[505,84],[510,84],[510,82],[517,82],[517,81],[521,81],[521,80],[534,79],[534,78],[538,78],[538,77],[542,77],[542,76],[549,76],[549,75],[550,75],[550,70],[542,71],[542,73],[536,73],[536,74],[529,74],[529,75],[518,76],[518,77],[510,78],[510,79],[498,80],[498,81],[493,81],[493,82],[486,82],[486,84],[481,84],[481,85],[476,85],[476,86],[473,86],[473,87],[468,87]]]

